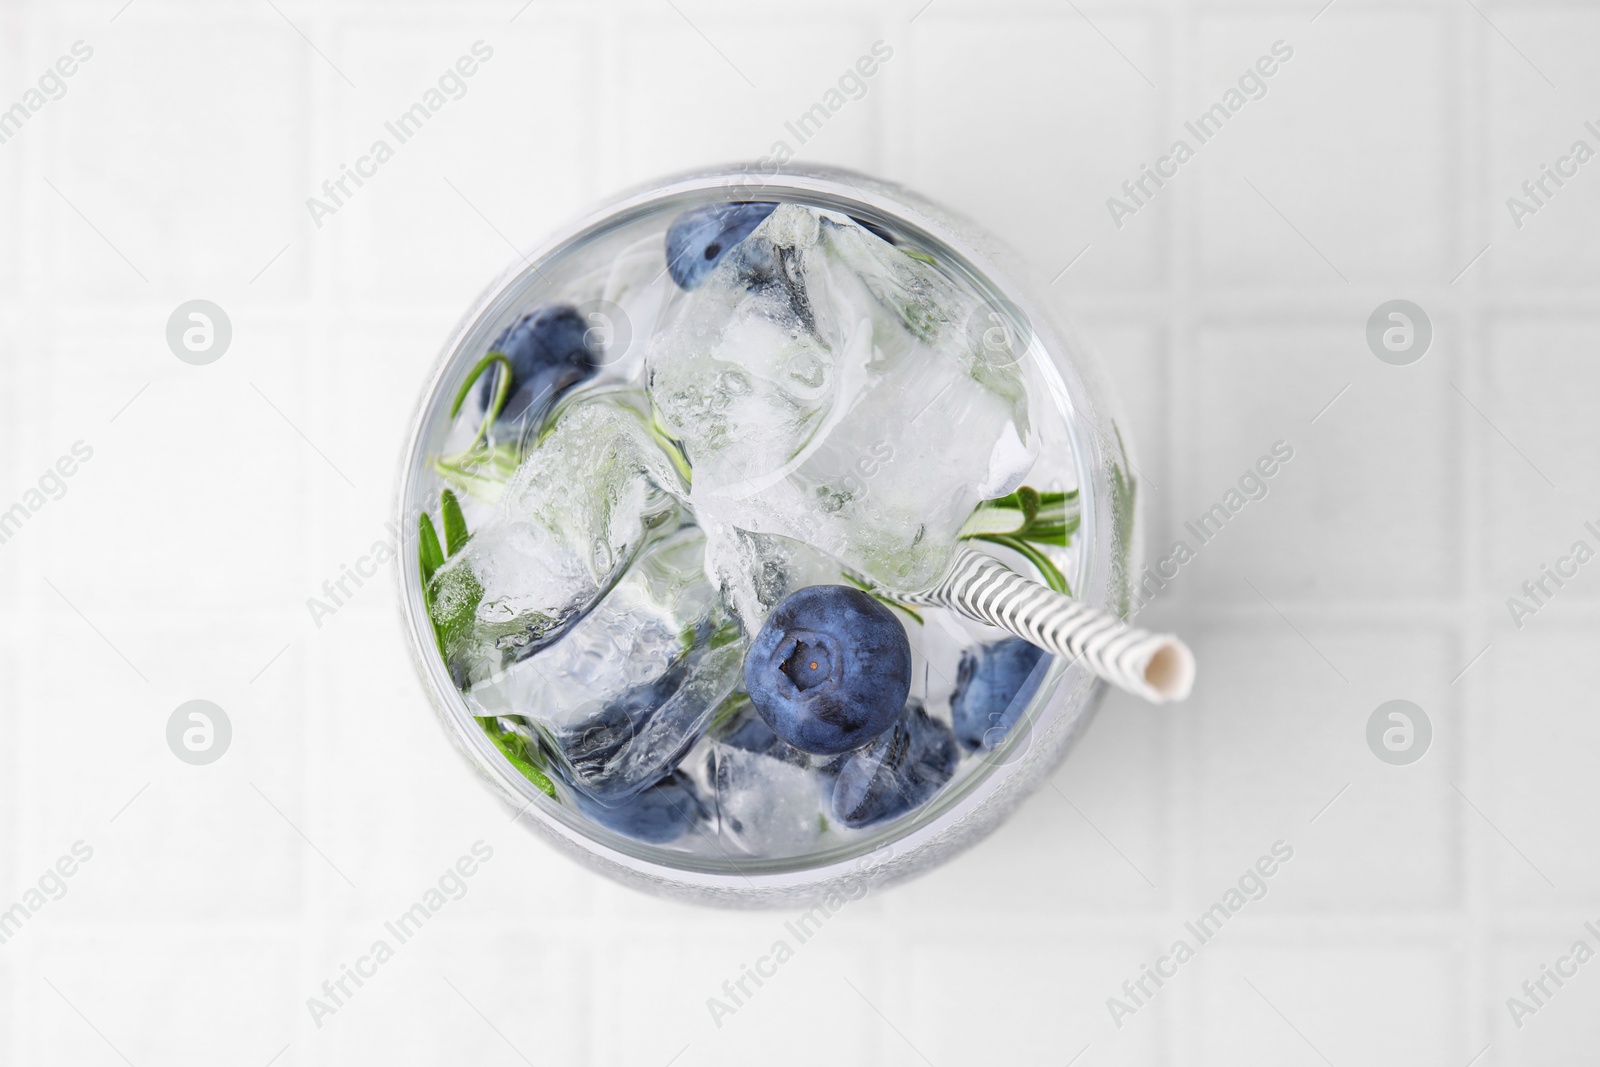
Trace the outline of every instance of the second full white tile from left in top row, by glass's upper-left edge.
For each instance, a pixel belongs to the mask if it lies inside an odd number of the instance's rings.
[[[595,37],[582,22],[530,13],[490,30],[477,18],[362,18],[333,37],[331,54],[362,90],[331,86],[296,234],[331,264],[336,294],[464,307],[594,197]],[[413,106],[437,107],[421,128],[400,126]],[[379,141],[392,152],[382,163]],[[347,181],[336,213],[314,221],[306,200],[333,203],[320,187],[346,165],[371,176]]]

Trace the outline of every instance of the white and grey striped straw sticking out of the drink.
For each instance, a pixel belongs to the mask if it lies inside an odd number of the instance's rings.
[[[962,547],[942,582],[925,593],[893,593],[910,605],[952,608],[1046,651],[1082,661],[1098,678],[1152,704],[1182,701],[1195,657],[1171,633],[1150,633],[1082,600],[1022,577],[994,557]]]

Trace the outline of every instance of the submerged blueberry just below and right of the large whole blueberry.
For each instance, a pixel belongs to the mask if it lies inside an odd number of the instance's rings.
[[[834,817],[858,829],[906,814],[950,781],[958,758],[950,728],[912,701],[893,729],[845,758]]]

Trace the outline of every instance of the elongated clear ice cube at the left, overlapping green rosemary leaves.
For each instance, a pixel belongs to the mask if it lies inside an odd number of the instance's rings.
[[[430,613],[470,686],[558,638],[653,541],[686,518],[683,488],[626,390],[574,397],[493,518],[434,576]]]

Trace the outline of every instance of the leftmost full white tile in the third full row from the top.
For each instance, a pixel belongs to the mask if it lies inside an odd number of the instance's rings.
[[[149,619],[91,617],[150,681],[69,608],[40,614],[29,648],[35,670],[19,685],[19,704],[43,710],[19,723],[19,785],[34,798],[30,853],[48,861],[80,838],[94,849],[58,913],[133,923],[296,915],[304,885],[338,877],[285,821],[306,825],[294,664],[278,662],[251,683],[272,649],[250,633],[165,619],[158,645],[147,646],[138,637]],[[72,678],[69,702],[64,678]],[[224,755],[205,766],[168,747],[168,720],[192,699],[218,704],[232,726]],[[64,736],[90,742],[64,758]]]

